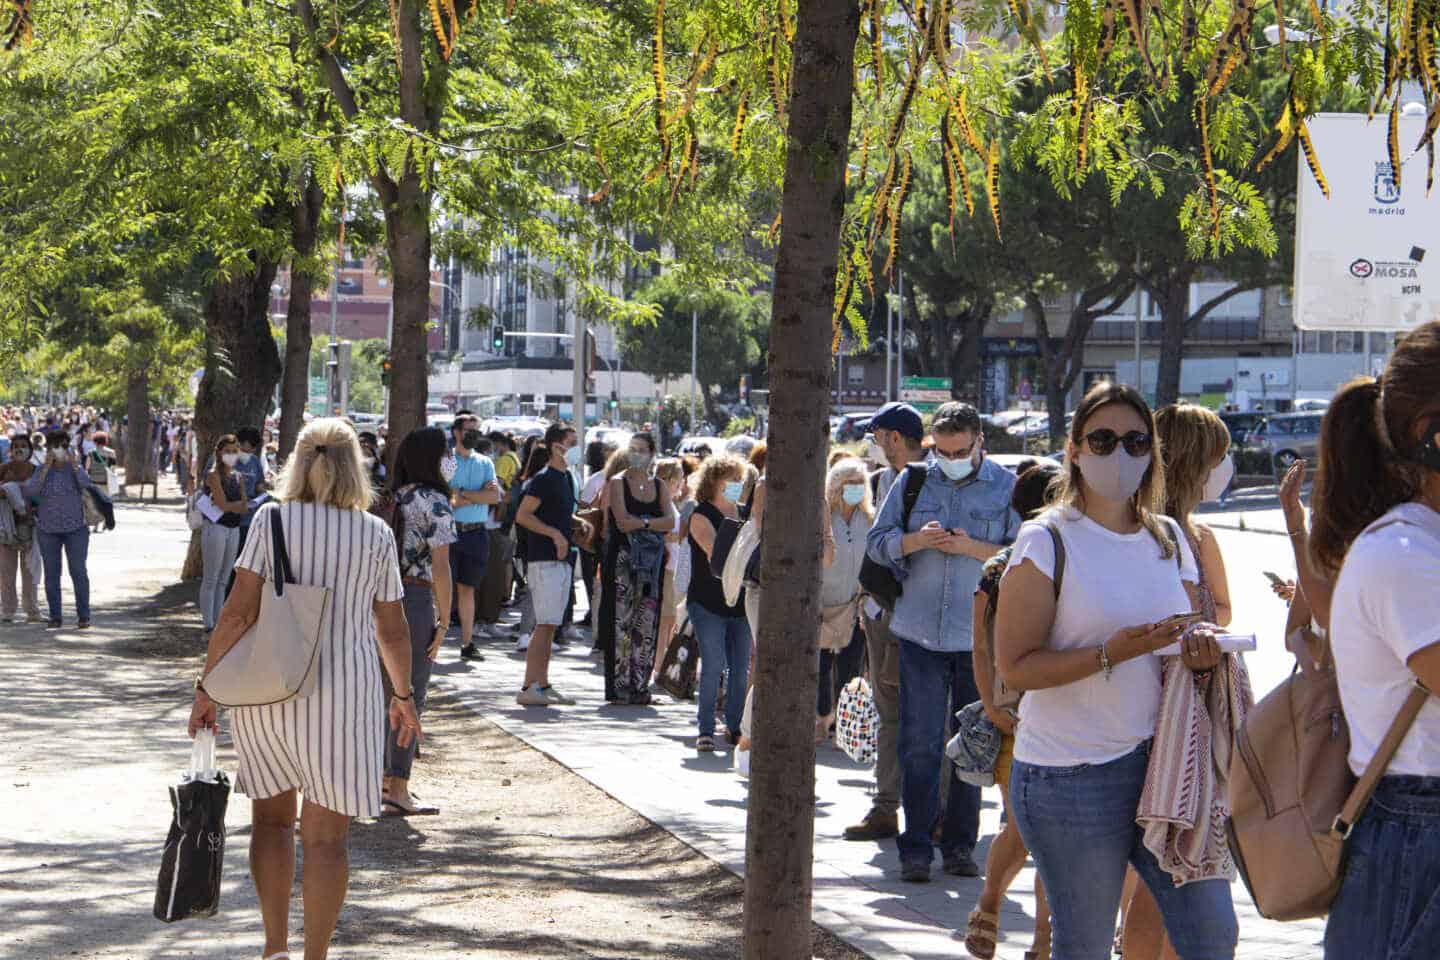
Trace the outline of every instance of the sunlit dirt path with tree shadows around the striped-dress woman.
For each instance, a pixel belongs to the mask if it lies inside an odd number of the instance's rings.
[[[202,639],[194,584],[167,586],[189,534],[177,502],[118,520],[92,541],[92,633],[0,626],[0,956],[253,959],[243,797],[220,914],[150,915]],[[442,816],[356,825],[331,957],[740,957],[733,875],[454,699],[426,731],[415,790]],[[816,928],[816,957],[863,954]]]

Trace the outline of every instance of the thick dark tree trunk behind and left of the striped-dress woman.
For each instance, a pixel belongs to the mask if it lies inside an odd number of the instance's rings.
[[[276,263],[259,255],[252,255],[252,263],[246,272],[216,279],[204,298],[204,376],[193,423],[202,466],[216,439],[265,422],[279,380],[279,351],[269,324]],[[197,533],[180,574],[184,580],[202,573],[199,544]]]

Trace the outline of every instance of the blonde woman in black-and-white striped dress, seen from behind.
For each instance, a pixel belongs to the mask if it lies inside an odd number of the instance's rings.
[[[395,535],[366,512],[370,495],[354,429],[336,419],[307,426],[281,478],[281,502],[255,515],[235,589],[196,681],[190,735],[215,725],[216,705],[204,692],[204,675],[259,617],[261,590],[272,576],[269,524],[279,520],[295,580],[330,587],[331,600],[314,694],[232,711],[239,754],[235,784],[253,800],[251,874],[265,920],[266,960],[289,957],[297,794],[304,793],[305,959],[324,960],[346,898],[350,818],[380,813],[384,711],[400,746],[420,735]],[[380,659],[396,691],[387,707]]]

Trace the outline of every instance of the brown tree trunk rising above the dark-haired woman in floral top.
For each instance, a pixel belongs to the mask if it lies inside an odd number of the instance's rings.
[[[416,130],[429,130],[426,94],[444,95],[444,83],[426,85],[425,81],[419,4],[400,10],[400,115]],[[399,443],[406,433],[425,425],[429,396],[431,191],[422,184],[413,160],[392,174],[396,177],[393,189],[383,191],[382,199],[395,312],[389,436]]]

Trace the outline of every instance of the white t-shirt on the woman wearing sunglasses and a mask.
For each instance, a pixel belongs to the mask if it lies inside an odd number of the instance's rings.
[[[1181,580],[1197,583],[1200,574],[1172,520],[1164,522],[1179,544],[1178,563],[1174,554],[1161,554],[1149,530],[1117,534],[1073,507],[1053,508],[1020,528],[1007,571],[1028,560],[1054,580],[1056,548],[1045,521],[1056,524],[1066,544],[1050,649],[1097,648],[1125,628],[1191,610]],[[1153,655],[1116,664],[1109,679],[1094,674],[1064,687],[1027,691],[1020,702],[1015,759],[1047,767],[1109,763],[1155,735],[1159,705],[1161,658]]]

